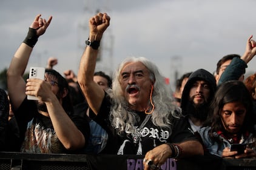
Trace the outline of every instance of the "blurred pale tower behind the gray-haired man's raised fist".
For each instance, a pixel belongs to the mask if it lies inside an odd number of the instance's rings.
[[[86,37],[89,36],[88,21],[99,12],[109,13],[110,8],[109,1],[105,0],[85,0],[84,1],[84,18],[80,24],[78,24],[78,47],[85,48]],[[99,46],[99,53],[97,57],[97,63],[95,71],[104,71],[109,76],[113,73],[113,42],[114,36],[112,30],[107,28],[101,39]]]

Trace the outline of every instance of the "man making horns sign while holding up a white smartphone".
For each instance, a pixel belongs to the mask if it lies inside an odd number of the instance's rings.
[[[48,21],[41,15],[36,16],[7,71],[8,92],[20,129],[22,152],[78,151],[86,144],[89,125],[77,117],[70,119],[72,105],[64,77],[55,70],[45,70],[44,80],[27,79],[25,83],[22,77],[33,47],[51,21],[52,16]],[[28,100],[27,95],[39,100]]]

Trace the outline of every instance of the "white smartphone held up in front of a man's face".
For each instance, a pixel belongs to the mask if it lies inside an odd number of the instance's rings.
[[[33,79],[41,79],[44,80],[44,73],[45,73],[45,68],[44,67],[30,67],[29,71],[29,78]],[[38,97],[32,96],[32,95],[27,95],[28,100],[38,100]]]

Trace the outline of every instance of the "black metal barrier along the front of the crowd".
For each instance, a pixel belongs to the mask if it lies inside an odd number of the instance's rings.
[[[141,155],[71,155],[0,152],[1,170],[142,170]],[[197,156],[175,161],[168,159],[163,170],[252,170],[256,159],[220,159]]]

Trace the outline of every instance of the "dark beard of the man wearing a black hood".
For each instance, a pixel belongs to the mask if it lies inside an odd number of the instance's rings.
[[[204,121],[208,116],[209,105],[207,103],[203,103],[195,106],[194,102],[189,100],[186,105],[186,112],[189,116],[193,116],[198,120]]]

